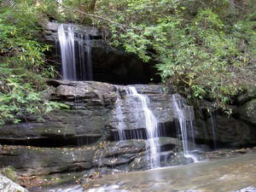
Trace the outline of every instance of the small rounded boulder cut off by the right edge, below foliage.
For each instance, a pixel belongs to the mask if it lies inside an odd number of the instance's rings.
[[[239,107],[239,119],[252,125],[256,125],[256,99],[246,102]]]

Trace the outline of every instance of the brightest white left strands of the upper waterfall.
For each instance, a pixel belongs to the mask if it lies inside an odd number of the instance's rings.
[[[67,27],[67,34],[64,26],[58,28],[58,38],[61,46],[61,67],[63,79],[76,80],[75,49],[73,27]]]

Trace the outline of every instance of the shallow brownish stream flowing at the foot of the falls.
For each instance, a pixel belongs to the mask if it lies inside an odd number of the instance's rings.
[[[255,192],[255,160],[255,153],[244,154],[239,157],[207,160],[185,166],[108,175],[96,179],[91,183],[91,189],[85,191]],[[93,186],[99,187],[93,188]],[[254,188],[247,188],[249,186]],[[108,190],[111,187],[114,188]]]

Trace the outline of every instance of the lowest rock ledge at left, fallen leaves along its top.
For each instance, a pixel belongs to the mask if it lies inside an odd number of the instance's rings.
[[[92,167],[93,148],[33,148],[9,146],[0,156],[2,166],[13,166],[21,176],[79,172]]]

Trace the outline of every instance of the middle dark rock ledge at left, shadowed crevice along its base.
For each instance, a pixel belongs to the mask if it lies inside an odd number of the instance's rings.
[[[0,127],[0,141],[7,144],[60,147],[79,141],[95,143],[103,136],[108,110],[56,110],[44,122],[27,122]],[[81,143],[82,144],[82,143]]]

